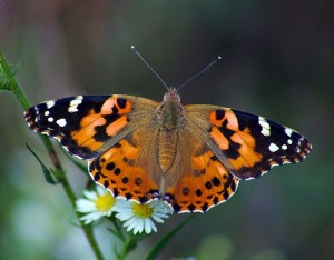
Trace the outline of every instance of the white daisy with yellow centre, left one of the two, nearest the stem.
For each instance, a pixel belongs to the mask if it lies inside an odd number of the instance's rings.
[[[86,198],[76,201],[77,211],[85,213],[80,218],[85,224],[89,224],[101,217],[110,217],[116,211],[118,200],[112,194],[100,186],[97,186],[96,191],[85,190]]]

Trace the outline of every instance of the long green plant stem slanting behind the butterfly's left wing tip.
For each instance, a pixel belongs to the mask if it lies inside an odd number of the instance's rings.
[[[2,68],[2,71],[7,78],[7,81],[9,83],[9,90],[11,90],[14,96],[18,98],[19,102],[21,103],[21,106],[23,107],[24,110],[30,108],[30,103],[28,101],[28,99],[26,98],[26,96],[23,94],[20,86],[18,84],[18,82],[16,81],[13,73],[4,58],[4,56],[2,54],[2,52],[0,51],[0,66]],[[50,141],[50,139],[46,136],[40,136],[41,140],[49,153],[49,157],[52,161],[53,167],[56,168],[57,171],[57,179],[59,180],[59,182],[62,184],[62,188],[67,194],[67,197],[69,198],[72,208],[75,209],[75,212],[78,217],[78,219],[80,218],[80,213],[76,210],[76,196],[75,192],[66,177],[66,172],[59,161],[59,158],[53,149],[53,146]],[[90,243],[90,247],[95,253],[96,259],[98,260],[102,260],[104,256],[98,247],[98,243],[94,237],[94,232],[92,232],[92,228],[90,226],[86,226],[82,221],[80,221],[80,226],[81,229],[84,230],[86,238],[88,240],[88,242]]]

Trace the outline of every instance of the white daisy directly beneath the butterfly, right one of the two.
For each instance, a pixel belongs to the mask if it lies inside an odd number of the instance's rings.
[[[171,213],[171,207],[161,200],[154,200],[146,204],[119,200],[116,218],[125,221],[124,227],[127,227],[127,231],[134,230],[134,234],[141,233],[144,230],[146,233],[150,233],[151,231],[157,232],[153,220],[163,223],[163,219],[168,218],[168,214]]]

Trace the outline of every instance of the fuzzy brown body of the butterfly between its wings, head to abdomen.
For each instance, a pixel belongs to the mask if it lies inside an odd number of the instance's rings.
[[[178,134],[185,128],[185,111],[179,100],[176,90],[171,89],[157,108],[156,121],[159,127],[157,153],[159,166],[164,172],[167,172],[175,162]]]

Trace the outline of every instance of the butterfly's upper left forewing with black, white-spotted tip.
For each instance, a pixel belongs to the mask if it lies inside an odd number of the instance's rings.
[[[39,103],[24,117],[31,130],[56,138],[73,156],[91,159],[138,128],[157,106],[131,96],[78,96]]]

